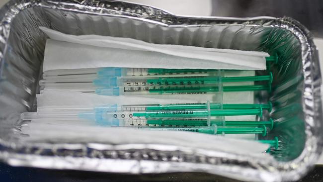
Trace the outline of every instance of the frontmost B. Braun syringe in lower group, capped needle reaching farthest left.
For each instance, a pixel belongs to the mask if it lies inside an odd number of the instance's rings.
[[[124,126],[125,119],[140,118],[211,118],[217,116],[259,115],[262,117],[262,108],[257,109],[185,109],[146,111],[145,107],[128,107],[125,109],[95,108],[93,111],[43,111],[25,112],[22,120],[59,119],[59,120],[90,120],[99,125]]]

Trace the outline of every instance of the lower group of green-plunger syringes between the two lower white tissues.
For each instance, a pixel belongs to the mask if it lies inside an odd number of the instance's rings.
[[[273,120],[226,121],[221,116],[262,116],[271,110],[267,104],[139,104],[105,105],[100,107],[42,107],[38,112],[21,114],[22,120],[33,123],[64,125],[99,125],[141,130],[190,131],[206,134],[260,134],[266,136]],[[268,141],[267,141],[268,142]],[[272,142],[273,146],[277,144]]]

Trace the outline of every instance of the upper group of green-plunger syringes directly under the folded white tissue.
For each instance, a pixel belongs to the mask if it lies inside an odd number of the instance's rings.
[[[233,72],[233,71],[226,71]],[[225,77],[220,70],[96,68],[51,70],[41,89],[92,92],[100,95],[203,94],[229,91],[270,91],[272,74]],[[241,85],[239,83],[261,83]],[[222,83],[237,83],[223,86]]]

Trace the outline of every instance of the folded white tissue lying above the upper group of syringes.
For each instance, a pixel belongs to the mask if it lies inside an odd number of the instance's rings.
[[[43,71],[100,67],[265,70],[265,52],[153,44],[100,35],[67,35],[40,27],[47,40]]]

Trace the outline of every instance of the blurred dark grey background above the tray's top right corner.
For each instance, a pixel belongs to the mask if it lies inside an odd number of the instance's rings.
[[[212,0],[212,16],[289,16],[323,38],[323,0]]]

